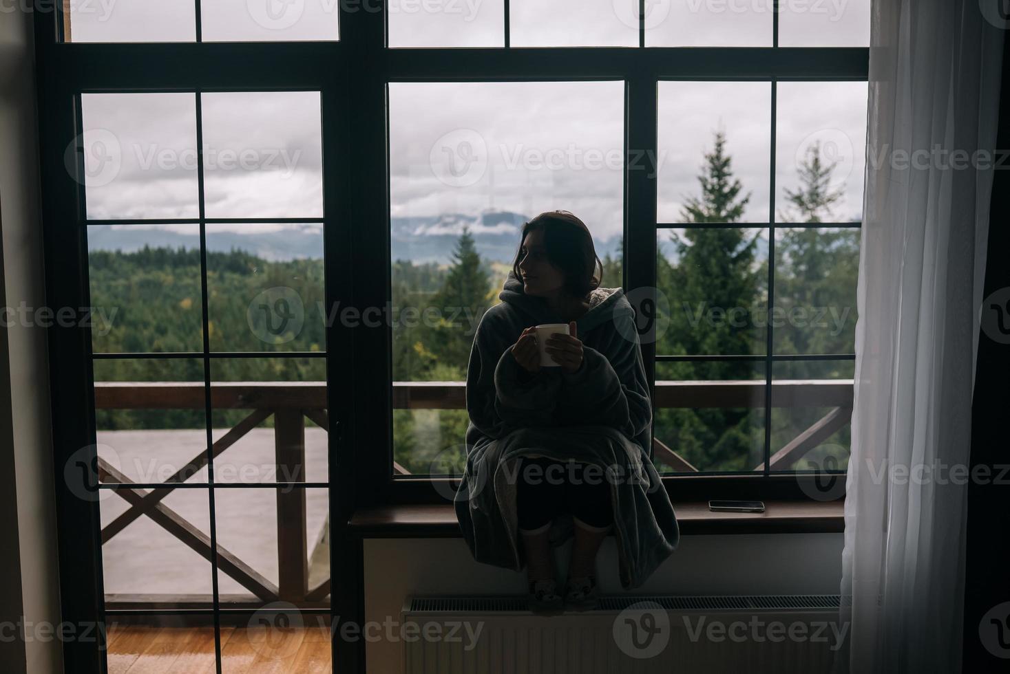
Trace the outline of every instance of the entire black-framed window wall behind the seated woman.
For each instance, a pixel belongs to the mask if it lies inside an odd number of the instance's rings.
[[[638,312],[678,498],[839,495],[805,473],[848,456],[868,0],[57,4],[46,293],[90,308],[49,336],[61,591],[111,626],[69,659],[330,669],[348,520],[451,498],[542,211]]]

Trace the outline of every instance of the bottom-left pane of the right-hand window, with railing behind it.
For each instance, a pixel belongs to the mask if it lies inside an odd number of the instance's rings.
[[[655,363],[656,470],[749,471],[764,460],[765,363]]]

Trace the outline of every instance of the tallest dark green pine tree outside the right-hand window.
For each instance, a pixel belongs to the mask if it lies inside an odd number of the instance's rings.
[[[743,216],[750,194],[733,176],[726,152],[726,136],[714,134],[698,177],[700,196],[689,198],[681,220],[691,224],[731,224]],[[727,355],[749,354],[761,343],[749,320],[763,297],[762,265],[755,263],[758,236],[734,227],[691,227],[671,233],[674,260],[658,260],[661,290],[670,304],[670,324],[660,353]],[[709,322],[719,311],[740,308],[743,325],[729,320]],[[709,313],[715,312],[715,313]],[[663,363],[658,378],[748,379],[750,363],[708,361]],[[747,470],[756,465],[762,449],[760,411],[663,410],[656,436],[694,466],[703,470]]]

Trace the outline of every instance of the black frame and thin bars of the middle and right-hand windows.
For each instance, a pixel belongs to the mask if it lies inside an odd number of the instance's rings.
[[[507,5],[507,3],[506,3]],[[507,24],[506,24],[507,25]],[[778,14],[775,17],[778,42]],[[639,43],[644,39],[639,30]],[[506,37],[507,43],[507,37]],[[466,52],[465,54],[462,52]],[[775,123],[779,82],[866,81],[869,72],[869,47],[521,47],[521,48],[444,48],[398,47],[388,49],[385,82],[511,82],[511,81],[599,81],[623,80],[625,96],[625,157],[629,148],[655,156],[658,144],[658,85],[661,81],[746,81],[768,82],[772,87],[772,144],[769,220],[733,223],[733,227],[764,228],[769,232],[770,310],[774,307],[775,230],[789,228],[858,228],[861,223],[783,223],[775,213]],[[388,109],[384,118],[388,120]],[[388,121],[387,121],[388,126]],[[388,147],[387,147],[388,151]],[[645,154],[647,156],[647,154]],[[387,175],[388,176],[388,175]],[[387,178],[388,180],[388,178]],[[654,172],[624,170],[624,283],[626,291],[636,290],[639,303],[654,302],[656,235],[662,229],[686,228],[687,223],[660,222],[656,213],[658,183]],[[386,214],[388,216],[388,212]],[[387,220],[385,231],[389,231]],[[386,259],[389,251],[386,250]],[[389,283],[389,276],[384,279]],[[388,293],[387,293],[388,295]],[[378,298],[377,298],[378,300]],[[391,331],[383,335],[390,340]],[[654,399],[655,362],[663,360],[730,360],[743,357],[765,363],[765,400],[771,400],[773,363],[816,360],[853,360],[854,354],[775,354],[773,329],[767,333],[764,355],[692,355],[656,356],[653,340],[643,339],[641,349]],[[379,341],[379,340],[377,340]],[[390,358],[391,341],[373,344],[372,356]],[[380,352],[380,348],[382,351]],[[391,396],[390,388],[383,391]],[[379,392],[378,390],[375,392]],[[376,417],[370,424],[385,424],[389,429],[388,460],[376,466],[376,478],[382,490],[365,504],[410,504],[446,502],[444,489],[433,489],[431,479],[394,476],[392,457],[392,400],[388,418]],[[672,497],[681,500],[709,498],[740,499],[810,499],[818,493],[814,475],[769,469],[771,454],[771,406],[765,407],[764,470],[756,474],[701,473],[664,475],[664,485]],[[377,462],[378,463],[378,462]]]

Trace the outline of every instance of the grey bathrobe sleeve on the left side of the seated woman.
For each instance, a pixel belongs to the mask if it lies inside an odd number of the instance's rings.
[[[482,318],[467,368],[467,411],[484,435],[501,438],[517,428],[556,426],[561,374],[527,376],[512,356],[514,340],[498,322]]]

